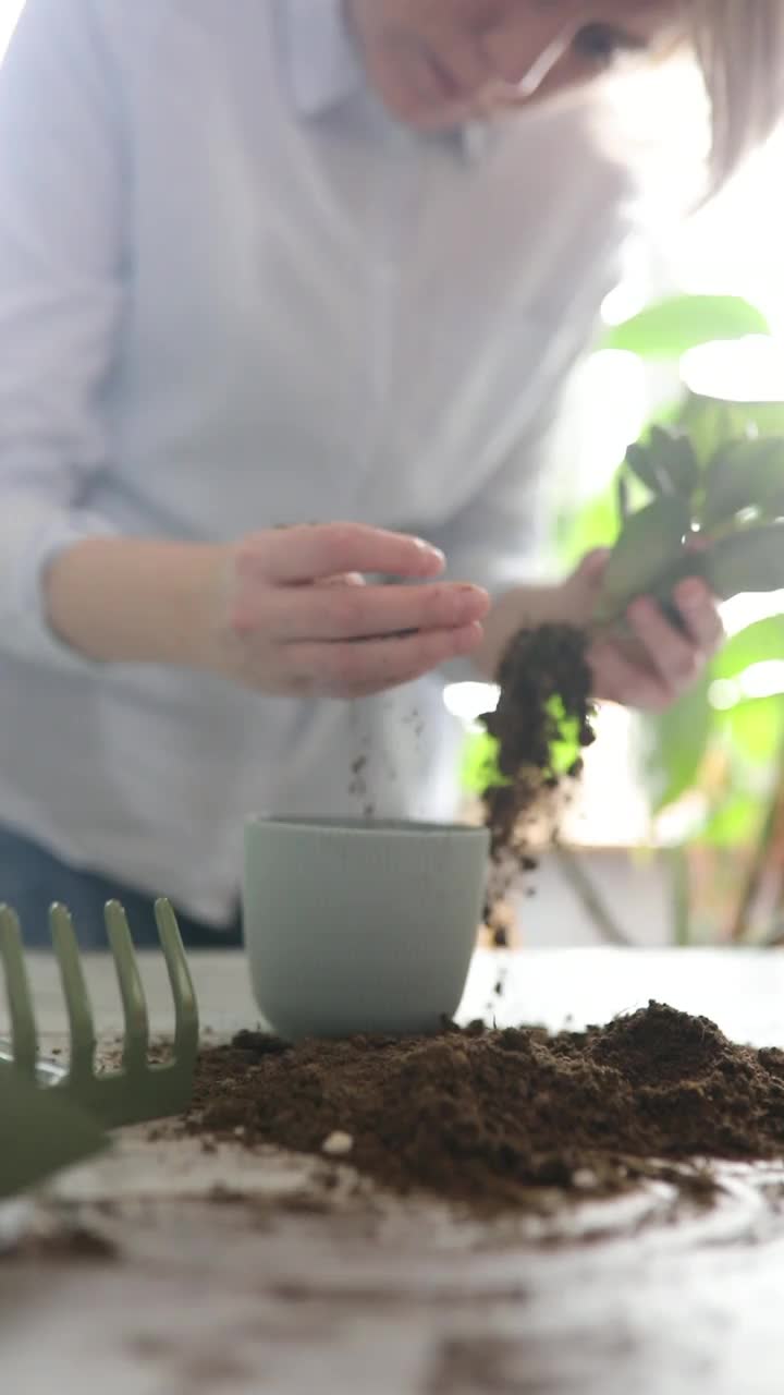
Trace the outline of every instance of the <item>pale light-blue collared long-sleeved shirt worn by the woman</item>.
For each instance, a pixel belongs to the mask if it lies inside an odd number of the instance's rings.
[[[350,706],[95,665],[40,571],[96,533],[350,518],[525,579],[624,195],[578,102],[484,144],[398,126],[338,0],[28,0],[0,71],[0,823],[220,923],[251,810],[449,813],[438,678]]]

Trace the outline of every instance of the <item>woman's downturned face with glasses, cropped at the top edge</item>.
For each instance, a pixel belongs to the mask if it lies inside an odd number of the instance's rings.
[[[368,75],[431,130],[576,86],[646,50],[688,0],[345,0]]]

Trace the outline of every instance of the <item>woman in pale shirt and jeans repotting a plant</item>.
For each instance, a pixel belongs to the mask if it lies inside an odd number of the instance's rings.
[[[0,75],[0,889],[28,940],[60,898],[99,943],[119,893],[144,942],[165,891],[188,943],[232,943],[248,810],[449,812],[444,665],[492,675],[601,575],[533,586],[547,428],[626,225],[596,80],[692,36],[723,174],[778,116],[783,31],[780,0],[28,0]],[[720,625],[699,582],[678,604],[685,635],[633,610],[646,663],[594,650],[598,696],[692,681]]]

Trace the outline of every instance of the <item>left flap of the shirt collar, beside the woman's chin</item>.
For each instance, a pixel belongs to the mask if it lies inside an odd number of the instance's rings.
[[[324,116],[365,86],[343,0],[280,0],[283,60],[296,110]]]

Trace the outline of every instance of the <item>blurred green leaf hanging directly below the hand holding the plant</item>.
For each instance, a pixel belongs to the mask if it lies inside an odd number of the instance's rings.
[[[647,718],[644,770],[654,813],[677,804],[698,783],[714,721],[709,688],[706,675],[668,711]]]

